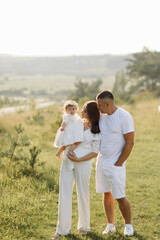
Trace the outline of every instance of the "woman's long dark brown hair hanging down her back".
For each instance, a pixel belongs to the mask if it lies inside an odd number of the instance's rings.
[[[89,101],[85,104],[85,109],[87,110],[88,120],[91,123],[91,132],[100,133],[99,129],[99,119],[100,111],[96,101]]]

